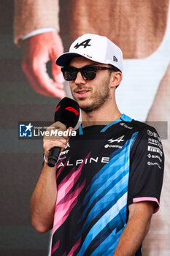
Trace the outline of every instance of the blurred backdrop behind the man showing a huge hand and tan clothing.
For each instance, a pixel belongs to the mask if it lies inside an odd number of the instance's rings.
[[[161,208],[152,217],[143,255],[169,256],[169,0],[1,0],[0,12],[0,255],[47,255],[50,233],[31,227],[29,211],[42,140],[18,139],[18,122],[53,122],[55,105],[70,95],[54,61],[78,36],[94,33],[123,50],[123,82],[116,92],[120,111],[155,121],[161,133],[166,156]]]

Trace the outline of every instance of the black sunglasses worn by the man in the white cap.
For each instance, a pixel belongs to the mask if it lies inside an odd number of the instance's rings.
[[[99,66],[88,65],[85,67],[81,67],[80,69],[77,69],[77,67],[72,67],[72,66],[62,67],[61,71],[63,72],[63,78],[66,81],[76,80],[78,72],[81,73],[82,78],[84,78],[85,80],[93,80],[94,78],[96,78],[96,72],[99,69],[115,70],[114,67],[99,67]]]

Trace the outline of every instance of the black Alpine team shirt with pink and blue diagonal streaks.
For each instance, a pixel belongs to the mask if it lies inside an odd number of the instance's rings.
[[[58,159],[50,255],[112,256],[128,206],[147,200],[158,211],[162,181],[163,148],[153,127],[124,114],[107,126],[80,126]]]

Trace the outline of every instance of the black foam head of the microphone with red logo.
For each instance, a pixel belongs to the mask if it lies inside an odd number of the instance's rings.
[[[80,116],[80,108],[74,99],[63,98],[55,109],[55,121],[61,121],[66,127],[75,127]]]

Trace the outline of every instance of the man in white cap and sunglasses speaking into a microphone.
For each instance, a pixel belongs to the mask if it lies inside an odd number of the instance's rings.
[[[56,63],[80,105],[82,124],[76,138],[44,139],[32,224],[41,233],[53,227],[50,255],[142,255],[159,208],[163,151],[153,127],[117,108],[122,51],[107,37],[85,34]],[[61,122],[53,126],[66,130]],[[62,152],[57,165],[48,167],[54,146]]]

